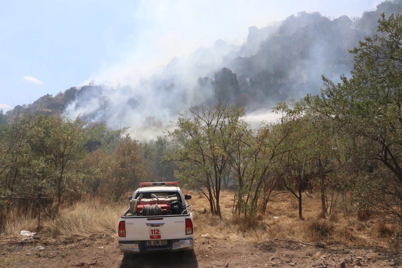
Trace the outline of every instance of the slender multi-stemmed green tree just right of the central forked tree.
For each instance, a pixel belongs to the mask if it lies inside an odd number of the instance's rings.
[[[256,214],[258,200],[263,201],[263,213],[277,184],[278,177],[273,176],[275,162],[284,153],[281,144],[292,131],[284,124],[263,122],[256,133],[242,131],[236,128],[238,135],[234,136],[235,150],[231,154],[231,164],[238,179],[238,194],[236,195],[236,211],[244,213],[245,217]],[[244,128],[247,130],[247,128]],[[246,146],[244,146],[246,145]]]

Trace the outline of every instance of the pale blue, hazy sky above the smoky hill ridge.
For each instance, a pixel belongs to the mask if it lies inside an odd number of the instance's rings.
[[[299,11],[361,16],[380,0],[0,1],[0,108],[88,84],[122,85],[217,39],[240,44]]]

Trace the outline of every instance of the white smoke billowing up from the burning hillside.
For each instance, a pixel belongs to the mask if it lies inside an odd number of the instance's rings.
[[[141,2],[140,5],[143,4],[144,2]],[[172,3],[170,2],[170,4]],[[233,12],[233,15],[238,12],[238,8],[232,8],[232,2],[231,4],[226,2],[226,4],[228,6],[218,2],[217,10],[227,8],[226,11]],[[157,28],[155,27],[147,34],[139,36],[139,40],[136,42],[137,47],[134,52],[127,55],[127,59],[123,63],[100,68],[98,72],[84,81],[78,98],[70,103],[65,115],[72,118],[80,115],[88,121],[105,121],[109,127],[113,128],[129,126],[132,137],[150,139],[162,134],[164,128],[171,127],[177,119],[177,113],[182,113],[192,105],[208,103],[216,98],[215,88],[208,78],[213,79],[214,72],[223,67],[230,68],[233,73],[241,74],[242,77],[238,76],[238,81],[241,79],[246,87],[251,89],[250,78],[258,73],[258,70],[245,69],[242,61],[252,56],[250,60],[253,60],[254,63],[258,62],[258,55],[255,53],[261,49],[264,42],[272,45],[267,40],[270,35],[275,33],[279,25],[274,23],[270,24],[271,27],[250,27],[248,39],[246,39],[243,25],[237,29],[244,32],[241,39],[228,42],[227,38],[224,41],[218,37],[213,45],[205,44],[211,40],[209,35],[216,33],[203,32],[203,27],[212,29],[213,25],[205,25],[205,23],[209,23],[207,18],[199,21],[195,19],[197,15],[191,12],[178,12],[181,9],[191,10],[186,5],[187,2],[170,6],[162,4],[156,8],[149,8],[146,4],[141,6],[139,8],[142,10],[141,12],[154,14],[153,17],[156,18],[156,21],[153,22],[154,26],[156,25],[160,29],[155,30]],[[245,10],[242,10],[242,14]],[[179,14],[179,18],[167,16],[166,14],[169,13]],[[136,16],[141,19],[142,14],[136,14]],[[183,22],[188,22],[188,27],[183,28]],[[230,20],[230,23],[233,22]],[[330,20],[323,18],[323,22],[329,23]],[[235,31],[234,25],[230,25],[230,23],[227,25],[228,32]],[[197,41],[202,45],[195,51],[191,51],[192,47],[189,45],[193,44],[194,40],[186,42],[187,36],[194,37],[194,35],[190,35],[191,31],[199,33]],[[298,27],[291,29],[289,36],[297,31],[299,31]],[[278,46],[278,51],[283,49],[279,43],[275,46]],[[270,49],[275,51],[272,47]],[[309,57],[304,61],[304,65],[293,66],[293,69],[285,70],[287,74],[283,78],[283,82],[296,81],[297,88],[288,89],[289,92],[278,91],[275,93],[273,90],[270,94],[276,95],[272,96],[264,92],[258,92],[255,96],[244,94],[244,99],[252,97],[257,100],[254,105],[258,106],[250,107],[250,110],[258,110],[258,112],[249,113],[247,121],[253,127],[258,127],[263,120],[276,120],[277,115],[271,113],[271,107],[275,105],[275,102],[289,101],[289,98],[297,100],[306,93],[318,93],[319,87],[322,85],[321,74],[326,71],[322,69],[322,66],[330,60],[329,57],[336,57],[336,55],[328,55],[329,49],[330,44],[317,42],[308,51]],[[282,53],[284,52],[282,51]],[[168,63],[166,64],[166,62]],[[261,69],[265,68],[271,72],[269,75],[272,75],[273,68],[277,67],[275,62],[261,61],[259,64]],[[291,65],[288,60],[283,63],[284,67],[281,68],[286,68],[286,64]],[[339,68],[339,70],[343,72],[345,68]],[[339,77],[342,74],[338,72],[339,70],[330,70],[330,78]],[[258,75],[263,79],[267,76],[266,74]],[[205,83],[200,85],[199,78],[201,78],[201,82],[205,78],[206,82],[204,81]],[[282,78],[280,79],[282,83]],[[253,81],[255,82],[255,79]],[[87,84],[94,85],[84,86]],[[162,126],[156,124],[157,126],[153,128],[152,126],[148,126],[148,129],[145,128],[149,117],[159,119]],[[149,129],[151,130],[149,131]]]

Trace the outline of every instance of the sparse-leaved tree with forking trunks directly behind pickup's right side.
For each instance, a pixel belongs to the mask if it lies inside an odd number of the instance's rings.
[[[243,109],[219,102],[215,106],[193,106],[179,114],[176,129],[169,131],[176,153],[176,176],[204,194],[211,213],[221,216],[219,194],[222,178],[229,167],[228,155],[234,130],[243,121]]]

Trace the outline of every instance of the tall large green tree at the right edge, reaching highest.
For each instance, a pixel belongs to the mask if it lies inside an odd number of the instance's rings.
[[[362,174],[357,178],[367,183],[360,183],[355,194],[369,196],[363,192],[370,190],[365,186],[370,185],[372,177],[363,176],[364,172],[373,173],[380,164],[390,170],[394,176],[384,176],[385,183],[378,187],[384,191],[382,201],[388,200],[390,205],[395,205],[395,200],[402,200],[401,43],[401,15],[391,15],[387,19],[384,13],[381,14],[377,35],[365,37],[359,47],[351,50],[355,54],[351,78],[342,76],[341,82],[334,84],[323,77],[326,87],[321,95],[308,95],[304,99],[307,108],[331,121],[337,133],[357,141],[356,152],[364,152],[359,157],[365,160],[366,166],[363,164],[356,172]],[[362,200],[360,198],[360,204]],[[390,217],[394,217],[392,213]]]

